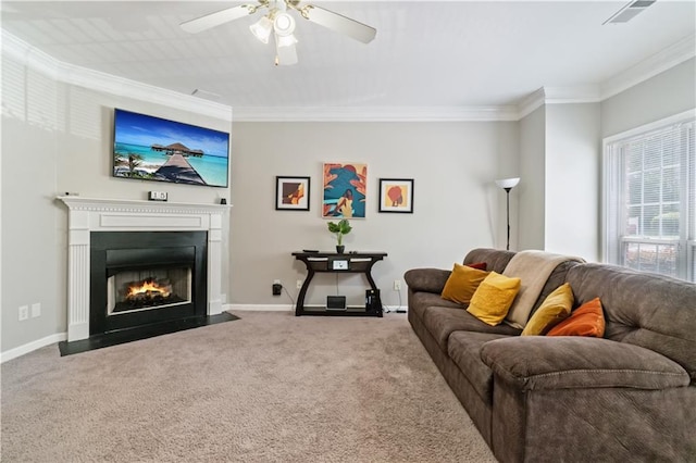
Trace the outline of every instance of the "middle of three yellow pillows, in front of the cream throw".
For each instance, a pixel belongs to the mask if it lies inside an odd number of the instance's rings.
[[[499,325],[520,291],[521,279],[490,272],[471,298],[467,312],[490,326]]]

